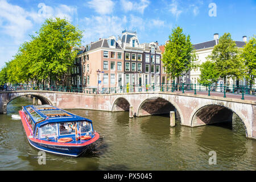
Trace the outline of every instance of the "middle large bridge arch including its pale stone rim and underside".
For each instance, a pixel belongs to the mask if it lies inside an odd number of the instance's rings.
[[[147,104],[149,105],[146,106]],[[180,117],[181,124],[184,123],[184,117],[180,107],[174,101],[170,101],[170,99],[162,96],[149,97],[143,100],[138,106],[137,116],[169,114],[170,111],[176,111],[177,117]]]

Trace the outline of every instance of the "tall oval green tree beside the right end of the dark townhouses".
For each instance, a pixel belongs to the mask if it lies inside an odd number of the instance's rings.
[[[179,83],[179,77],[194,66],[195,60],[195,49],[193,49],[190,36],[183,34],[181,27],[174,28],[163,53],[162,61],[166,73],[171,79],[177,78]]]

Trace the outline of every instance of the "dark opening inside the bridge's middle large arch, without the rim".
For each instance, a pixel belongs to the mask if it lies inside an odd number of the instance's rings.
[[[138,117],[147,115],[170,115],[170,111],[175,111],[175,118],[180,121],[180,113],[170,102],[161,97],[151,97],[139,106]]]

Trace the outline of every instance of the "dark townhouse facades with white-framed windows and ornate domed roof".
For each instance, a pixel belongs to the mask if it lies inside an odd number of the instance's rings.
[[[137,32],[125,30],[118,43],[125,54],[123,85],[160,84],[161,52],[157,42],[140,44]]]

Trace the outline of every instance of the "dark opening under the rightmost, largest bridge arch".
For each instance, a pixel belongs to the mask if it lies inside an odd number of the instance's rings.
[[[221,105],[207,105],[198,109],[193,115],[191,126],[201,125],[225,127],[226,129],[246,133],[247,136],[246,125],[240,115]]]

